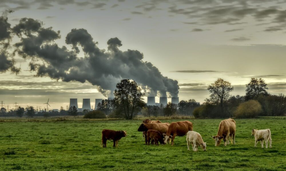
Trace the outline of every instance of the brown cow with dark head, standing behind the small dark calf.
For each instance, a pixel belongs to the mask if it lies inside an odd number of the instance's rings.
[[[149,129],[159,131],[160,134],[167,132],[169,128],[169,123],[141,123],[138,130],[139,132],[145,132],[145,144],[147,144],[147,131]]]

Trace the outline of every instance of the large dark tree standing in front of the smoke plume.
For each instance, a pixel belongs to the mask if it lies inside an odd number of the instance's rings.
[[[122,117],[125,119],[133,119],[142,107],[146,106],[143,101],[145,93],[135,81],[128,79],[121,80],[116,84],[114,91],[115,106]]]

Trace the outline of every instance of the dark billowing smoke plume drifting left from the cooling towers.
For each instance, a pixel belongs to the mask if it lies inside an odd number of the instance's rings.
[[[68,50],[54,42],[60,38],[60,32],[44,28],[41,21],[22,18],[9,30],[20,38],[14,45],[15,53],[31,60],[30,70],[36,76],[64,82],[88,81],[106,97],[112,96],[121,79],[136,81],[147,95],[156,96],[158,92],[168,92],[172,97],[178,95],[176,80],[162,76],[152,63],[144,62],[138,50],[121,51],[122,43],[117,37],[107,41],[107,50],[99,49],[87,30],[74,28],[65,38],[65,43],[72,46],[72,50]],[[84,52],[82,57],[79,56],[80,46]]]

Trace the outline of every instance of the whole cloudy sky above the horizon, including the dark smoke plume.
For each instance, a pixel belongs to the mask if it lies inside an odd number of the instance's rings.
[[[0,101],[94,106],[124,78],[156,102],[203,103],[217,78],[232,95],[252,77],[285,94],[285,10],[282,0],[2,0]]]

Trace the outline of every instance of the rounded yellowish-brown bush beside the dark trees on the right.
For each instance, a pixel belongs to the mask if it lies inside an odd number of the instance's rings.
[[[261,114],[261,112],[261,104],[257,100],[250,100],[241,103],[237,107],[234,116],[237,118],[254,118]]]

